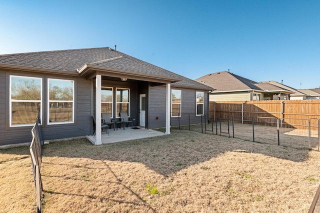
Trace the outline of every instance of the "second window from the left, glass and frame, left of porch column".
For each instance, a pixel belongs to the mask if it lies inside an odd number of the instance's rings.
[[[48,124],[74,122],[74,80],[48,78]]]

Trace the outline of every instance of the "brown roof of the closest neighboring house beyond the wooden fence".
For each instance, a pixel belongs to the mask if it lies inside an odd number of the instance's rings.
[[[270,83],[258,83],[253,80],[241,77],[228,71],[210,73],[195,79],[215,88],[212,93],[231,92],[231,91],[260,91],[260,92],[284,92],[291,93],[289,90]]]

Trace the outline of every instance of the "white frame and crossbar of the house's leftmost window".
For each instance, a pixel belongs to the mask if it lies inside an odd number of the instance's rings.
[[[33,78],[40,79],[40,100],[12,100],[12,76],[13,77],[21,77],[21,78]],[[42,123],[42,78],[41,77],[31,77],[31,76],[22,76],[22,75],[10,75],[9,80],[9,127],[20,127],[20,126],[32,126],[34,123],[27,124],[12,124],[12,102],[39,102],[40,103],[40,119]],[[34,120],[35,122],[35,120]]]

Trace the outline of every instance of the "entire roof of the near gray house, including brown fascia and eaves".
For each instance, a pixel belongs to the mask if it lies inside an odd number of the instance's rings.
[[[172,82],[172,86],[212,90],[211,87],[160,68],[109,47],[67,49],[0,55],[0,67],[47,71],[88,77],[92,71],[152,77]],[[160,82],[160,81],[159,81]]]

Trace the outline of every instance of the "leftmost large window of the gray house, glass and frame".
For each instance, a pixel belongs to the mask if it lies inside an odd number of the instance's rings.
[[[9,125],[33,125],[42,116],[42,79],[10,75],[9,87]]]

